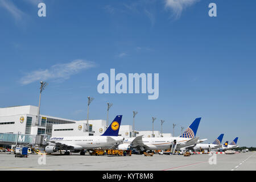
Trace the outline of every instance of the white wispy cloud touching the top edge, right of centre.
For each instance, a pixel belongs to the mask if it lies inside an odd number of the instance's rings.
[[[182,11],[188,7],[192,6],[196,2],[199,2],[200,0],[165,0],[165,6],[166,8],[169,8],[172,10],[173,15],[175,18],[179,18]]]

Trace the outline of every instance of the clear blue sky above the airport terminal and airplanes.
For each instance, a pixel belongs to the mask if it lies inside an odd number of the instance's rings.
[[[47,16],[38,16],[38,3]],[[217,4],[217,17],[208,5]],[[197,135],[221,133],[240,146],[256,137],[255,13],[247,1],[0,0],[0,107],[38,105],[39,82],[49,83],[41,113],[69,119],[123,115],[135,129],[175,133],[202,117]],[[159,98],[99,94],[99,73],[159,73]],[[224,142],[225,142],[224,141]]]

